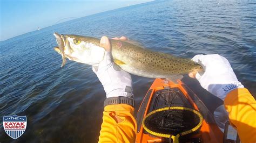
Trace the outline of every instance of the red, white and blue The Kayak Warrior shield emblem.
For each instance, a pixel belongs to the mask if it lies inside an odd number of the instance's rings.
[[[26,116],[4,116],[3,126],[6,134],[12,139],[17,139],[26,130]]]

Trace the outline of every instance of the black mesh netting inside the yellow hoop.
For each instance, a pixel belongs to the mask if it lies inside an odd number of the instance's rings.
[[[196,127],[200,118],[188,110],[170,109],[153,113],[145,119],[149,130],[163,134],[179,134]]]

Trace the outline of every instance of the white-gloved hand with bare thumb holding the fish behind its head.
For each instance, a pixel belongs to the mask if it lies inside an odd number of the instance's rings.
[[[120,40],[123,40],[122,38],[120,38]],[[102,37],[102,39],[100,39],[100,47],[106,49],[104,60],[99,63],[98,67],[92,67],[92,70],[102,83],[106,92],[106,97],[132,97],[131,75],[120,69],[113,62],[111,44],[107,37]]]

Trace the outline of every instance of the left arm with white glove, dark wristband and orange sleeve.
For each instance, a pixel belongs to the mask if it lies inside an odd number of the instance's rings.
[[[113,63],[107,37],[102,37],[100,46],[106,49],[104,60],[92,68],[106,92],[99,142],[134,142],[137,124],[133,117],[131,75]]]

